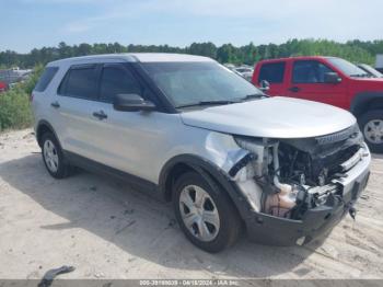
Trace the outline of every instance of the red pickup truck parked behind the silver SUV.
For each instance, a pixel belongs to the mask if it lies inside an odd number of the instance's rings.
[[[350,111],[365,141],[383,152],[383,78],[336,57],[292,57],[256,64],[252,82],[271,96],[322,102]]]

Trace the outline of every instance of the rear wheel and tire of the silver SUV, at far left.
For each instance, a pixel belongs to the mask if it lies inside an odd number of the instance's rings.
[[[61,147],[51,133],[46,133],[42,138],[42,154],[45,168],[55,179],[65,179],[70,174],[70,165],[67,162]]]

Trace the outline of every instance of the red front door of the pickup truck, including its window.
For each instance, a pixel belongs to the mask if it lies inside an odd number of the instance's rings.
[[[294,60],[286,95],[346,108],[346,81],[326,83],[324,81],[326,72],[334,72],[334,70],[325,62],[318,60]]]

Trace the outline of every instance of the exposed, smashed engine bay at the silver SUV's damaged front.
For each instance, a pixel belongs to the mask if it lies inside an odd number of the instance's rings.
[[[368,153],[358,126],[315,138],[235,137],[248,153],[229,171],[258,213],[300,220],[343,200],[338,183]]]

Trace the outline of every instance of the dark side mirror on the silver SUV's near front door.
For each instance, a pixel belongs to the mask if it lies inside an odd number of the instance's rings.
[[[113,107],[121,112],[154,111],[155,105],[150,101],[144,101],[138,94],[117,94],[113,101]]]

